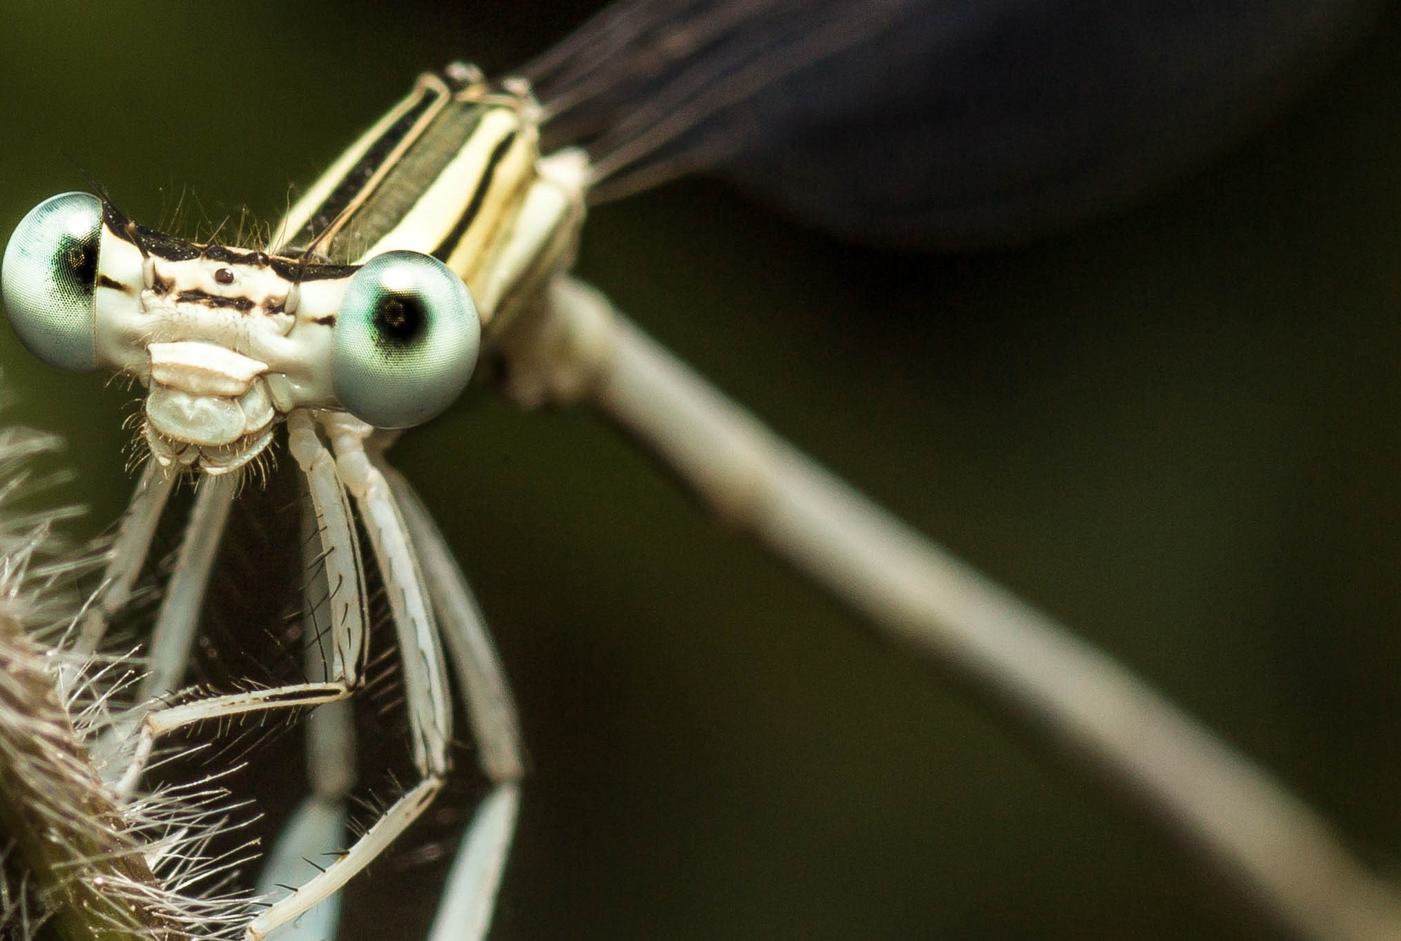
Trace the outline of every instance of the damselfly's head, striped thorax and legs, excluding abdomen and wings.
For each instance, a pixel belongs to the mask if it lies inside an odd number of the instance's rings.
[[[80,643],[95,648],[130,595],[174,478],[199,478],[151,639],[142,689],[150,704],[129,741],[104,748],[123,800],[136,793],[163,735],[269,710],[335,706],[363,688],[357,524],[370,541],[402,662],[417,783],[322,871],[272,902],[247,927],[248,938],[266,937],[333,895],[441,788],[453,710],[434,608],[496,787],[453,875],[460,888],[444,917],[454,927],[444,930],[460,937],[462,919],[482,930],[488,923],[521,777],[516,713],[450,552],[408,485],[391,485],[381,452],[395,430],[457,399],[482,325],[499,333],[569,260],[584,162],[577,153],[539,160],[537,112],[520,83],[490,87],[465,66],[425,76],[289,211],[269,251],[177,239],[84,193],[45,202],[10,242],[6,302],[31,349],[56,365],[105,365],[147,386],[142,433],[150,466]],[[258,466],[283,423],[308,493],[307,542],[329,612],[307,639],[321,661],[303,682],[174,693],[240,478]],[[427,553],[429,583],[415,542]],[[349,741],[336,711],[311,725],[312,797],[284,856],[326,853],[335,842],[352,779]]]

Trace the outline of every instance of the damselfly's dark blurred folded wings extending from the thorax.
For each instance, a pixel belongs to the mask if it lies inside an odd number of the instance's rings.
[[[530,63],[595,200],[723,169],[838,232],[1021,241],[1240,140],[1379,0],[621,0]]]

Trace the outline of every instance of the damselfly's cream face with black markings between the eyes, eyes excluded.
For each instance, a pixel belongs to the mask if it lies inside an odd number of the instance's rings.
[[[339,407],[332,335],[349,274],[293,281],[266,255],[182,249],[104,224],[97,363],[147,388],[142,430],[157,461],[224,473],[262,452],[291,409]]]

